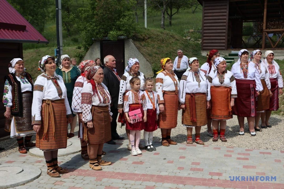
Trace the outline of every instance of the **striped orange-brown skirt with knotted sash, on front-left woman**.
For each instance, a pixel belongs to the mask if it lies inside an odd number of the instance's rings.
[[[45,112],[45,106],[51,106],[53,110],[53,116],[48,112]],[[49,111],[50,112],[50,111]],[[54,130],[51,122],[51,117],[54,118]],[[46,139],[43,139],[44,134],[44,122],[48,119]],[[46,120],[47,121],[47,120]],[[49,105],[46,101],[42,101],[41,105],[41,128],[36,134],[36,147],[41,150],[57,150],[67,147],[67,118],[64,99],[53,100]]]

